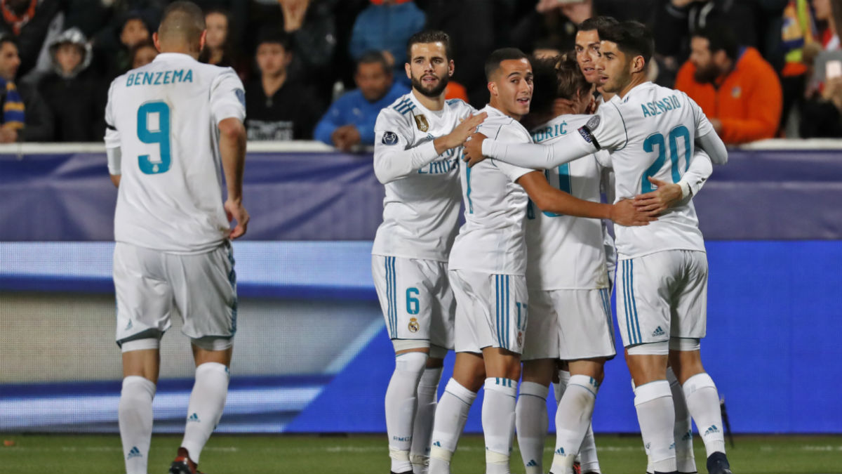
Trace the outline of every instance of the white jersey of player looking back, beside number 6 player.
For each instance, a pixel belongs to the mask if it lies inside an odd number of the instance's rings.
[[[483,135],[501,142],[531,143],[519,121],[491,105],[480,112],[488,112],[478,128]],[[531,171],[496,159],[461,167],[465,224],[450,251],[450,270],[525,275],[524,218],[529,197],[514,181]]]

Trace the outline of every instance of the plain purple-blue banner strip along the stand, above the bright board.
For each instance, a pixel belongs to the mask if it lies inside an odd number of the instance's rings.
[[[102,152],[0,154],[0,241],[113,240]],[[248,154],[247,240],[372,240],[383,186],[370,153]],[[842,239],[839,150],[730,150],[694,198],[708,240]],[[33,218],[38,216],[38,218]]]

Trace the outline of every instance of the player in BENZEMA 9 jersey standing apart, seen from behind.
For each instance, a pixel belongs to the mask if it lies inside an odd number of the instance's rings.
[[[231,240],[248,225],[245,96],[233,69],[196,61],[205,15],[194,3],[170,4],[153,38],[162,53],[115,78],[105,109],[109,173],[119,187],[114,283],[125,378],[118,417],[126,471],[147,472],[159,341],[178,309],[196,372],[169,472],[192,474],[222,415],[237,329]]]

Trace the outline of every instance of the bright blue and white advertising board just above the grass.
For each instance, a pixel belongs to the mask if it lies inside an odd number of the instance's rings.
[[[733,431],[842,433],[842,242],[707,247],[702,354]],[[109,243],[0,244],[0,357],[14,361],[0,375],[0,426],[116,430],[120,356],[108,289],[111,249]],[[394,355],[371,283],[370,242],[237,242],[234,251],[242,298],[232,392],[219,429],[383,432]],[[71,293],[61,299],[56,291]],[[178,432],[192,374],[178,324],[163,343],[155,426]],[[452,360],[450,354],[440,391]],[[607,364],[594,412],[597,432],[637,432],[629,380],[621,356]],[[470,432],[481,431],[481,403],[482,397],[472,409]]]

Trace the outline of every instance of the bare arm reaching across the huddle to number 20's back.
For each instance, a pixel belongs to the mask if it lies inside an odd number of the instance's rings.
[[[532,202],[542,211],[565,214],[578,218],[610,219],[616,224],[627,227],[647,225],[657,218],[639,210],[631,199],[616,204],[603,204],[573,197],[567,192],[550,186],[540,171],[527,173],[517,180],[523,186]]]

